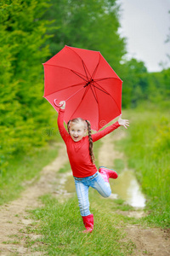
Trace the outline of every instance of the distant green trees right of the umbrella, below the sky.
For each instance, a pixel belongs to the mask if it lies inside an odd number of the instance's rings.
[[[150,102],[156,108],[170,107],[170,69],[148,73],[144,62],[132,59],[122,65],[122,107],[136,108]]]

